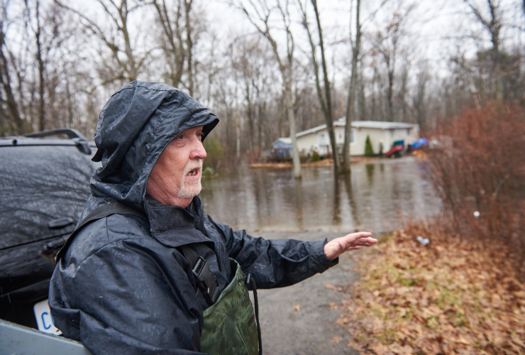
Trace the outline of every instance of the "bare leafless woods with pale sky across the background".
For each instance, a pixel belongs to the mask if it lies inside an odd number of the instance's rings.
[[[166,82],[210,107],[224,156],[237,159],[341,117],[429,130],[489,99],[525,104],[520,1],[0,6],[2,136],[64,126],[92,136],[106,99],[132,80]]]

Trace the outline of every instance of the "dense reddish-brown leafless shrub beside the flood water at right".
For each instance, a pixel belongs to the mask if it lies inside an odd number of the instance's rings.
[[[490,103],[432,134],[429,180],[463,236],[525,251],[525,110]]]

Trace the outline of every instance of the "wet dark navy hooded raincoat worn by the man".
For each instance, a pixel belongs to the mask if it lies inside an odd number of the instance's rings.
[[[55,326],[93,354],[194,354],[201,351],[204,310],[192,266],[177,247],[203,257],[220,290],[235,259],[258,288],[292,285],[335,265],[325,241],[265,240],[214,222],[194,197],[186,209],[145,195],[155,161],[179,133],[218,119],[184,92],[165,84],[131,82],[102,109],[96,127],[102,168],[81,220],[103,204],[123,202],[148,221],[112,214],[79,230],[57,260],[49,303]],[[227,337],[227,334],[225,334]]]

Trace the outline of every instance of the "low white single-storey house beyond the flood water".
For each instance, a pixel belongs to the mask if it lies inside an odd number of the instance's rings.
[[[338,121],[333,122],[333,126],[338,151],[342,153],[346,120],[344,118],[338,119]],[[299,132],[295,136],[297,137],[297,148],[299,148],[301,155],[309,155],[312,151],[317,151],[320,155],[328,155],[332,151],[326,124]],[[374,153],[379,153],[380,145],[382,145],[382,153],[386,153],[394,141],[403,140],[406,146],[419,139],[419,126],[404,122],[353,121],[350,133],[351,155],[365,154],[367,136],[370,136]]]

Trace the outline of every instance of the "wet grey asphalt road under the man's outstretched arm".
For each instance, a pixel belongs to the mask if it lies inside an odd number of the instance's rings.
[[[320,231],[262,234],[265,239],[292,238],[305,241],[331,240],[343,235]],[[359,354],[348,348],[349,334],[346,328],[336,324],[341,311],[328,306],[331,302],[338,303],[348,298],[348,294],[325,288],[326,284],[346,288],[354,283],[358,273],[351,271],[352,268],[351,258],[343,255],[337,266],[302,283],[288,288],[259,290],[263,354]],[[294,311],[295,305],[301,305],[301,310]],[[343,337],[341,342],[329,342],[336,336]]]

